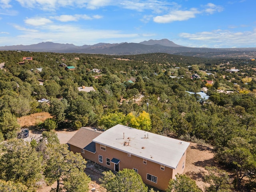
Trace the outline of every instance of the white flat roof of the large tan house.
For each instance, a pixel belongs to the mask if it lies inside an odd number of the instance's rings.
[[[92,141],[172,169],[177,167],[190,144],[120,124],[109,128]]]

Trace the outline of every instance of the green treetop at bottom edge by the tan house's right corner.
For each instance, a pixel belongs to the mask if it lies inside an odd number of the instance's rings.
[[[177,174],[171,179],[166,192],[202,192],[196,182],[184,174]]]

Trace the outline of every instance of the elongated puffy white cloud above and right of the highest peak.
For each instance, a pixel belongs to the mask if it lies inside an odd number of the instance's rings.
[[[195,8],[192,8],[192,9],[186,10],[186,11],[174,10],[174,11],[170,12],[170,14],[154,17],[154,22],[170,23],[170,22],[174,22],[174,21],[184,21],[184,20],[188,20],[190,18],[195,18],[196,14],[199,14],[199,13],[200,13],[200,11],[198,11]]]

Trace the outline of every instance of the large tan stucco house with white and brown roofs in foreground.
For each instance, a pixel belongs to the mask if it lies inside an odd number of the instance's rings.
[[[114,171],[133,169],[160,190],[184,171],[189,144],[120,124],[104,132],[80,128],[68,141],[74,153]]]

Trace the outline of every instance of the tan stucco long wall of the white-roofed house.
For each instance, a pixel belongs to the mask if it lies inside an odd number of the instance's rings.
[[[125,146],[124,146],[125,147]],[[173,169],[164,167],[164,170],[161,170],[160,164],[155,162],[151,162],[147,160],[147,164],[143,163],[143,158],[133,156],[128,156],[127,153],[121,152],[119,150],[115,150],[113,148],[109,148],[106,146],[106,151],[100,149],[100,144],[96,143],[96,163],[105,166],[111,170],[114,170],[115,164],[110,162],[110,166],[106,165],[106,158],[109,158],[110,161],[112,158],[119,159],[119,170],[124,168],[133,169],[136,168],[138,170],[138,174],[142,177],[144,183],[154,186],[160,190],[166,190],[169,184],[169,180],[173,177]],[[99,162],[98,156],[101,155],[103,162]],[[185,156],[185,155],[184,155]],[[186,158],[186,157],[185,157]],[[182,160],[180,162],[183,162]],[[181,165],[182,168],[182,165]],[[147,174],[151,174],[157,177],[157,183],[147,180]]]

